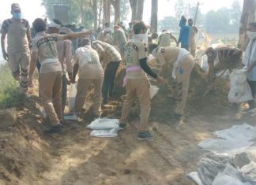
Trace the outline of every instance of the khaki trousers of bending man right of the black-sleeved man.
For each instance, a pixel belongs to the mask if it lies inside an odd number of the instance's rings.
[[[186,98],[190,86],[190,73],[194,68],[194,64],[194,58],[191,55],[188,55],[183,61],[179,62],[179,66],[176,69],[176,80],[178,85],[175,91],[178,91],[178,103],[175,113],[183,114],[186,107]]]

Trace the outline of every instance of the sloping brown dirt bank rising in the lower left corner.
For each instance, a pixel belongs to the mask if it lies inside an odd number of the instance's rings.
[[[34,110],[32,103],[27,102]],[[0,180],[1,184],[31,184],[47,170],[48,143],[44,141],[37,117],[23,108],[0,111]],[[32,110],[33,110],[32,109]],[[3,115],[4,113],[4,115]]]

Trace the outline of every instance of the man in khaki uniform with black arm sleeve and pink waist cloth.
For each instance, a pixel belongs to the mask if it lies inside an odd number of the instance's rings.
[[[126,61],[126,102],[122,106],[122,117],[119,120],[119,128],[122,130],[127,127],[127,118],[130,109],[136,98],[139,99],[141,107],[140,126],[137,139],[152,139],[154,135],[149,132],[149,113],[150,105],[150,83],[146,76],[152,76],[158,83],[164,83],[164,79],[152,72],[147,65],[148,46],[141,35],[145,35],[149,26],[143,21],[137,21],[134,24],[134,36],[126,43],[125,61]]]

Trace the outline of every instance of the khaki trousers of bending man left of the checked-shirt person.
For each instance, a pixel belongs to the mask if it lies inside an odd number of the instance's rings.
[[[94,86],[94,93],[93,93],[93,104],[92,109],[93,113],[99,114],[100,107],[101,107],[101,87],[103,83],[102,79],[79,79],[77,83],[77,95],[75,101],[75,112],[81,113],[81,109],[85,104],[85,98],[88,91],[88,88],[91,84]]]

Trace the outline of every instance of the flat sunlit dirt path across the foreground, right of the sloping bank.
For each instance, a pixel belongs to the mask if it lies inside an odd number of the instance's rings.
[[[157,138],[148,142],[137,141],[138,120],[115,139],[92,138],[85,124],[70,124],[62,135],[48,138],[50,168],[36,184],[193,184],[186,173],[196,170],[201,155],[196,143],[231,127],[234,116],[231,111],[158,122]]]

